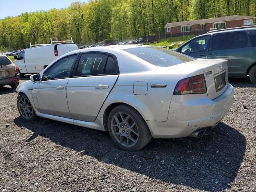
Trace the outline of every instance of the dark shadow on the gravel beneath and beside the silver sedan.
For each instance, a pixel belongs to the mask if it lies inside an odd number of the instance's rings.
[[[224,123],[202,138],[152,139],[142,150],[127,152],[116,148],[107,132],[44,118],[25,122],[18,117],[14,122],[34,132],[27,142],[42,136],[77,152],[84,150],[82,154],[101,162],[171,184],[173,188],[184,185],[210,192],[229,188],[246,149],[245,137]]]

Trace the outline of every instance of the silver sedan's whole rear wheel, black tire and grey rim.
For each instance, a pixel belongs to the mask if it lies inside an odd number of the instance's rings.
[[[152,136],[142,116],[134,108],[120,105],[108,116],[108,131],[122,150],[137,151],[150,142]]]

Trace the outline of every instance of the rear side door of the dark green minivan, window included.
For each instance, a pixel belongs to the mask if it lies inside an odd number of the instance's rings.
[[[228,60],[230,77],[244,77],[246,75],[246,66],[253,54],[246,32],[225,32],[212,35],[208,58]]]

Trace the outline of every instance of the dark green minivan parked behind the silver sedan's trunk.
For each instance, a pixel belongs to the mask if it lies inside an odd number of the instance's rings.
[[[229,77],[249,75],[256,84],[256,28],[210,32],[192,38],[175,51],[194,58],[226,59]]]

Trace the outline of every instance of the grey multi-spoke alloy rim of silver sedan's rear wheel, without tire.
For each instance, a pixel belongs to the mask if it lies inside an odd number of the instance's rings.
[[[116,113],[111,120],[111,131],[122,146],[131,147],[138,142],[139,132],[133,118],[123,112]]]

